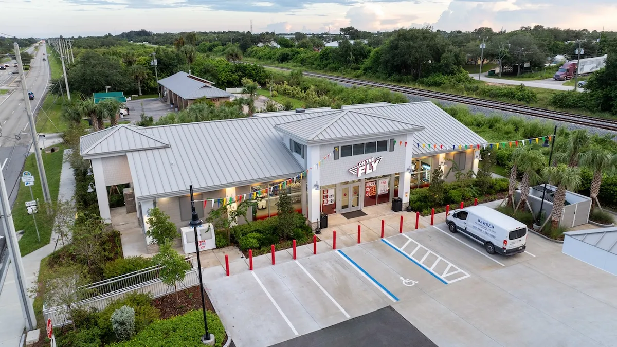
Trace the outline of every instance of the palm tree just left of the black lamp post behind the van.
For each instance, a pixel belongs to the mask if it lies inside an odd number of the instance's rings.
[[[535,146],[522,146],[516,148],[512,153],[512,161],[516,161],[518,169],[523,172],[523,179],[521,180],[521,200],[515,207],[523,206],[523,211],[527,205],[527,197],[529,196],[529,186],[535,185],[540,182],[540,175],[537,171],[544,168],[546,159],[539,149]]]

